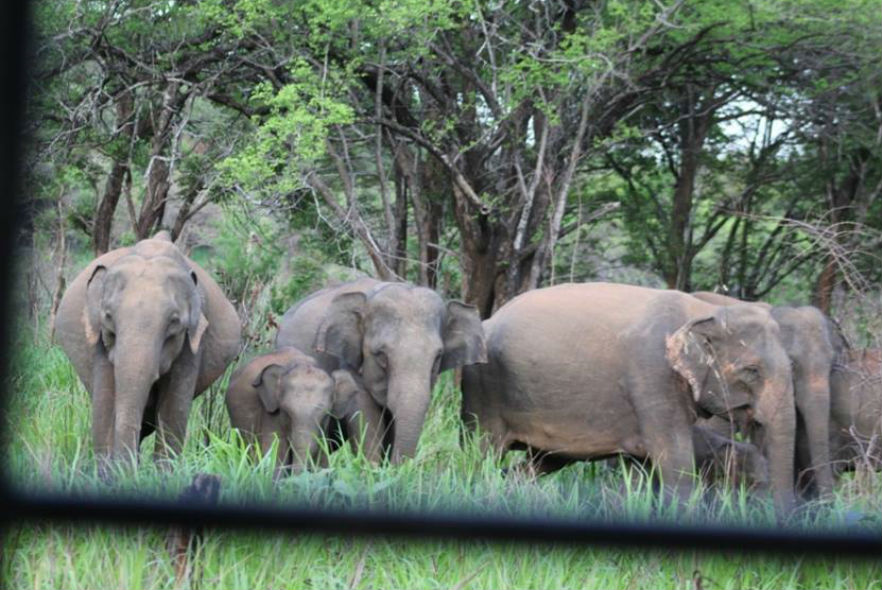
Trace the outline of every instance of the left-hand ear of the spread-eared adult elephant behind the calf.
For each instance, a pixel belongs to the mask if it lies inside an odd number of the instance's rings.
[[[341,293],[334,297],[312,347],[342,359],[352,368],[361,367],[366,305],[364,293]]]

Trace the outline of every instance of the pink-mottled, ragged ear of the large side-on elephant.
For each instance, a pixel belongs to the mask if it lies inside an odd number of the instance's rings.
[[[717,329],[716,322],[713,316],[692,320],[665,339],[668,364],[689,384],[695,403],[713,369],[715,358],[708,333]]]

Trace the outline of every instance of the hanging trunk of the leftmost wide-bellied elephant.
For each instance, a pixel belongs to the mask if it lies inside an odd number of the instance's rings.
[[[159,350],[126,340],[118,338],[115,350],[113,457],[137,461],[144,408],[159,378]]]

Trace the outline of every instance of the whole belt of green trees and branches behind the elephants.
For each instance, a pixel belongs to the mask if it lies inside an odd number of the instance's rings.
[[[62,194],[101,249],[110,224],[116,245],[180,235],[210,202],[259,204],[279,231],[337,234],[330,260],[484,315],[563,260],[573,274],[577,254],[602,263],[585,279],[627,267],[748,299],[818,299],[854,288],[846,272],[872,288],[872,6],[51,3],[35,21],[33,209]],[[108,215],[123,197],[128,215]],[[35,230],[54,235],[51,217]],[[627,242],[615,255],[573,239],[601,218]]]

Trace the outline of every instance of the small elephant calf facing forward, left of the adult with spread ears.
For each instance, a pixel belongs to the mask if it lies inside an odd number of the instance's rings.
[[[252,359],[230,378],[226,393],[230,422],[267,453],[278,439],[276,475],[322,464],[321,439],[330,445],[339,433],[376,460],[382,441],[363,440],[357,426],[368,394],[346,370],[329,375],[313,357],[284,348]],[[367,405],[367,411],[371,406]]]

